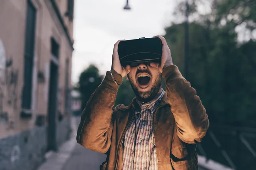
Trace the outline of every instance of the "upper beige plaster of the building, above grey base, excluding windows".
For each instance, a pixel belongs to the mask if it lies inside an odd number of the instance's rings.
[[[71,86],[70,76],[73,48],[52,8],[50,0],[31,1],[37,10],[32,85],[32,118],[23,119],[20,118],[20,111],[23,87],[27,0],[0,0],[0,94],[3,94],[3,100],[2,102],[0,101],[0,108],[2,105],[3,109],[0,110],[0,112],[8,113],[9,119],[7,124],[0,123],[0,137],[34,127],[38,115],[47,115],[51,37],[54,37],[60,46],[58,110],[65,115],[65,62],[66,59],[69,58],[69,86]],[[65,4],[67,4],[65,1],[66,0],[61,0],[62,13],[64,8],[66,8]],[[66,25],[67,28],[73,26],[71,21],[65,23],[69,24]],[[72,37],[71,40],[73,40]],[[3,44],[2,46],[1,42]],[[5,51],[5,53],[3,51]],[[7,61],[12,60],[12,65],[1,68],[1,61],[4,61],[4,59]],[[38,82],[38,72],[44,74],[45,82]],[[6,73],[8,73],[7,76]],[[17,82],[11,81],[12,73],[15,73],[15,75],[17,73]],[[12,126],[10,126],[10,122],[13,122]]]

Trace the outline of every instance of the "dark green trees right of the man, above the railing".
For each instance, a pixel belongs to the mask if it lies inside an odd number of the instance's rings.
[[[252,36],[256,30],[255,4],[250,0],[214,0],[211,14],[189,24],[188,80],[201,97],[212,124],[256,127],[256,42]],[[221,24],[221,20],[226,23]],[[241,24],[249,30],[248,42],[238,42],[235,29]],[[174,64],[183,72],[184,23],[173,23],[164,37]]]

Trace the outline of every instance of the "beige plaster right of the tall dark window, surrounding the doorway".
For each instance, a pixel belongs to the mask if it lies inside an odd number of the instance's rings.
[[[47,1],[45,1],[47,2]],[[55,41],[59,44],[59,76],[58,76],[58,113],[64,114],[64,101],[65,101],[65,61],[68,58],[70,60],[71,68],[71,56],[72,48],[70,47],[67,37],[65,36],[61,24],[58,21],[58,18],[53,14],[51,4],[42,3],[42,7],[38,11],[40,15],[44,15],[41,19],[40,26],[42,26],[41,33],[39,36],[40,42],[40,51],[38,55],[42,56],[38,61],[38,70],[44,73],[45,82],[38,83],[38,98],[37,101],[37,113],[40,115],[47,114],[48,107],[48,87],[49,87],[49,69],[50,69],[50,39],[53,37]],[[69,75],[71,70],[69,71]],[[71,75],[69,77],[71,80]],[[70,81],[69,81],[70,82]],[[69,84],[71,86],[71,83]]]

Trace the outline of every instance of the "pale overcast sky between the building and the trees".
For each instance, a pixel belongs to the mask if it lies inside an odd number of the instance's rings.
[[[177,0],[75,0],[72,82],[95,64],[100,74],[111,69],[113,45],[119,39],[131,40],[164,34],[172,20]]]

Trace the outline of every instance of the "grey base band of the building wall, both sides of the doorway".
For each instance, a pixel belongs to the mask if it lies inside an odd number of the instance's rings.
[[[47,148],[47,126],[0,139],[0,170],[35,170]],[[57,123],[58,145],[70,137],[70,119]]]

